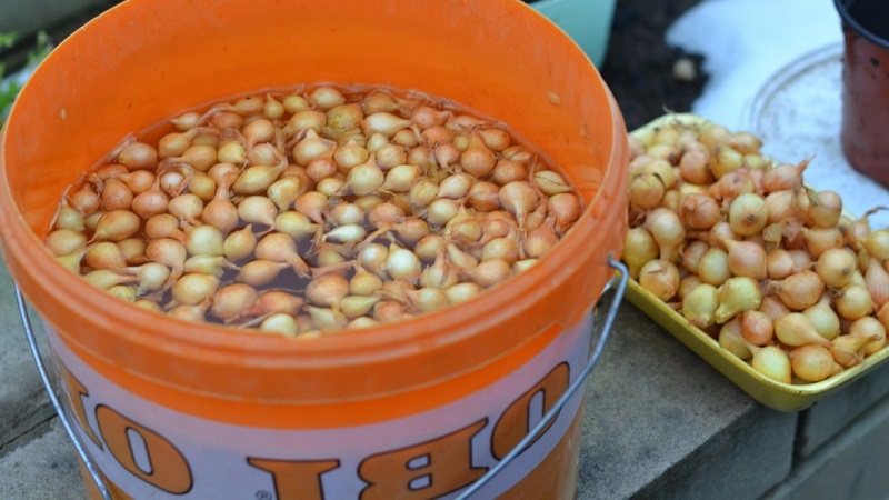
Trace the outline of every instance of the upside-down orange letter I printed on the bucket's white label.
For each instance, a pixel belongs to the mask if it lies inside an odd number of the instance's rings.
[[[247,463],[271,472],[278,500],[322,500],[321,474],[340,467],[339,460],[310,462],[248,458]]]

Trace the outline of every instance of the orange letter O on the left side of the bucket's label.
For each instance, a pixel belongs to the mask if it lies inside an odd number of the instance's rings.
[[[168,493],[191,490],[191,468],[170,441],[104,404],[96,407],[96,420],[121,467]]]

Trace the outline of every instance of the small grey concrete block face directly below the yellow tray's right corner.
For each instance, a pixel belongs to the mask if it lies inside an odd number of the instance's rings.
[[[811,454],[876,401],[888,396],[889,364],[885,364],[819,401],[801,414],[797,454]]]

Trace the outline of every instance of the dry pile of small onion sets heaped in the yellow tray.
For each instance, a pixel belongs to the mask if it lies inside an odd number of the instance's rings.
[[[672,117],[631,133],[631,278],[765,377],[826,380],[885,349],[889,229],[761,140]]]

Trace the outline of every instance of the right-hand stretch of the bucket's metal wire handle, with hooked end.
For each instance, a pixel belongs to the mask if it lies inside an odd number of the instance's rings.
[[[611,333],[611,327],[615,323],[615,318],[617,318],[618,309],[620,309],[620,303],[623,299],[623,292],[627,290],[627,281],[629,281],[630,272],[627,270],[627,267],[623,262],[615,260],[612,257],[609,256],[608,258],[608,266],[615,268],[616,270],[620,271],[620,274],[615,276],[615,278],[608,282],[605,290],[602,292],[607,292],[610,289],[615,288],[615,281],[617,281],[617,289],[615,290],[615,297],[611,299],[611,304],[608,308],[608,316],[605,318],[605,322],[602,322],[602,332],[599,334],[599,340],[596,342],[596,346],[592,349],[592,353],[590,353],[590,359],[587,361],[587,366],[583,367],[583,370],[580,371],[578,377],[568,386],[565,393],[552,404],[552,408],[543,416],[542,419],[531,429],[521,441],[516,444],[516,447],[509,451],[497,464],[495,464],[488,472],[485,473],[481,478],[479,478],[476,482],[470,484],[459,497],[455,500],[467,500],[470,496],[476,493],[480,490],[485,484],[493,479],[498,472],[503,470],[509,462],[516,459],[519,454],[521,454],[538,437],[539,434],[549,426],[552,420],[559,414],[562,407],[568,403],[568,400],[587,382],[587,377],[589,377],[592,368],[596,366],[596,362],[599,361],[599,357],[602,354],[602,350],[605,349],[605,342],[608,340],[609,333]]]

